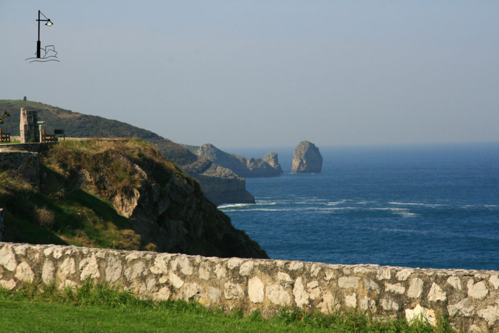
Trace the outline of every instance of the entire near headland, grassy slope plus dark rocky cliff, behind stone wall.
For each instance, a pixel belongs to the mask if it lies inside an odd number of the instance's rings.
[[[267,258],[150,143],[66,140],[40,155],[39,188],[0,172],[7,242]]]

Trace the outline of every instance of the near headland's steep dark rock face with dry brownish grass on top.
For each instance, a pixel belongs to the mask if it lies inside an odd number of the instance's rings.
[[[61,152],[63,143],[48,152],[50,165],[74,175],[80,188],[111,202],[130,219],[142,244],[153,244],[159,252],[267,258],[206,199],[198,182],[145,142],[95,142],[70,155]]]

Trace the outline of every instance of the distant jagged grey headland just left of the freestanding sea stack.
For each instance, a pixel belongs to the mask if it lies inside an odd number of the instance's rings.
[[[236,154],[229,154],[212,145],[206,143],[202,145],[197,154],[204,156],[216,165],[231,169],[239,177],[256,178],[256,177],[276,177],[282,173],[282,169],[277,162],[277,153],[273,153],[273,165],[270,165],[261,158],[245,158]]]

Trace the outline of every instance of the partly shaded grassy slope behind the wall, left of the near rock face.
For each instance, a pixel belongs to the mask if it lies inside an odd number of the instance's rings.
[[[140,248],[140,236],[130,221],[109,202],[82,189],[53,181],[51,189],[39,191],[9,171],[0,173],[0,184],[0,203],[7,208],[7,242]]]

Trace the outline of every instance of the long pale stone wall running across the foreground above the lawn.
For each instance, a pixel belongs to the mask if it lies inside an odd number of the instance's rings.
[[[210,307],[370,311],[376,316],[449,314],[457,330],[498,332],[499,272],[378,265],[221,259],[155,252],[0,243],[0,286],[86,279],[155,300],[194,299]]]

